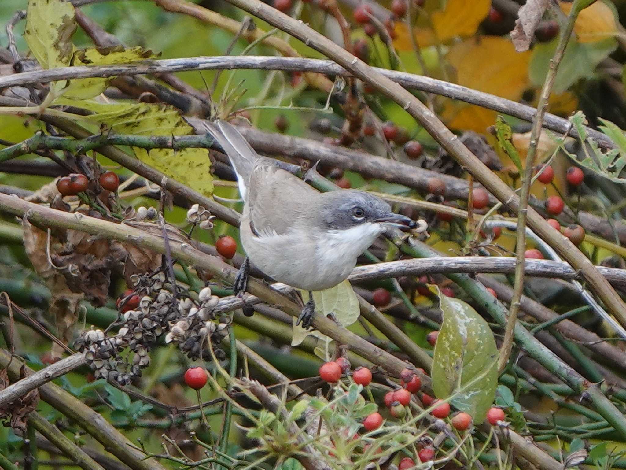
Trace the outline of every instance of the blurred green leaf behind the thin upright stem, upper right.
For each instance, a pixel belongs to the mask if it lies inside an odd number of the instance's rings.
[[[549,43],[535,44],[528,68],[533,85],[543,85],[556,48],[557,39]],[[581,78],[591,78],[595,74],[596,66],[616,48],[617,41],[614,38],[593,43],[578,43],[575,39],[570,39],[558,68],[554,93],[563,93]]]

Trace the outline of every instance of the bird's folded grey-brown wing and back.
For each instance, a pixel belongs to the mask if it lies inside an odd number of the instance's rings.
[[[320,193],[298,177],[259,159],[250,175],[247,199],[250,229],[256,236],[283,235],[311,216]]]

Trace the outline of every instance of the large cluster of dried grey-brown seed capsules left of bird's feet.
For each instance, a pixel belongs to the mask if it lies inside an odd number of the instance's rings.
[[[222,342],[228,334],[230,316],[224,315],[216,324],[214,309],[219,298],[211,289],[203,288],[197,300],[190,293],[177,288],[176,295],[168,290],[167,276],[162,271],[151,274],[133,275],[133,295],[143,295],[133,310],[125,310],[125,302],[119,307],[120,330],[107,337],[103,330],[91,329],[76,340],[76,348],[85,352],[88,365],[94,370],[96,379],[115,380],[121,385],[130,384],[141,371],[150,365],[150,347],[165,333],[165,342],[178,343],[178,347],[192,360],[202,352],[204,360],[210,360],[207,348]],[[128,296],[130,298],[130,296]],[[209,339],[210,337],[210,339]],[[121,355],[128,348],[128,355]],[[226,355],[223,350],[213,348],[218,360]]]

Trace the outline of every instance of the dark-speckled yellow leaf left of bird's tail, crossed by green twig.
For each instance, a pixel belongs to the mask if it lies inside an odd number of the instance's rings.
[[[189,135],[193,128],[188,125],[175,108],[151,103],[103,104],[94,101],[75,102],[73,106],[86,108],[95,114],[77,116],[77,119],[107,125],[113,132],[135,135]],[[188,185],[203,194],[213,192],[211,162],[207,149],[140,149],[133,147],[138,159],[163,172],[168,177]]]

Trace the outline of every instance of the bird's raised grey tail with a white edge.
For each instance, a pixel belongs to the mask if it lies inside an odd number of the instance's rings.
[[[217,120],[214,123],[205,121],[204,125],[228,156],[228,160],[230,160],[230,164],[237,174],[239,193],[245,199],[250,174],[252,174],[257,159],[259,159],[259,154],[232,124]]]

